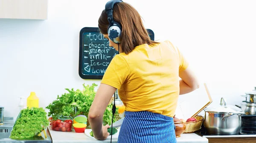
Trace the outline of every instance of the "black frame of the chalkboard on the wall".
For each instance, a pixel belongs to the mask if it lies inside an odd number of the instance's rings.
[[[151,40],[154,40],[154,32],[151,29],[147,29]],[[83,68],[83,34],[84,32],[100,32],[97,27],[84,27],[79,34],[79,76],[82,79],[102,79],[103,75],[84,75],[82,73]]]

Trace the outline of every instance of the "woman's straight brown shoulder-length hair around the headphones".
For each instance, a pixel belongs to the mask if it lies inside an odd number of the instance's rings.
[[[122,26],[121,47],[125,54],[130,53],[138,45],[155,45],[148,36],[138,11],[128,3],[116,3],[113,7],[113,19]],[[99,30],[108,34],[108,16],[105,10],[99,17]]]

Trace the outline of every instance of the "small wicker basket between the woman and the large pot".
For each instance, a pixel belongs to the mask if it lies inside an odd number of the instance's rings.
[[[202,123],[204,121],[204,117],[197,115],[195,116],[195,118],[196,118],[196,121],[186,123],[186,129],[183,133],[193,133],[201,129]]]

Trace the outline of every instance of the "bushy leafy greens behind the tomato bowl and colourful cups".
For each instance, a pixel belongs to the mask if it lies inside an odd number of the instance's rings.
[[[94,88],[97,84],[86,85],[83,84],[83,90],[70,90],[66,88],[68,93],[64,93],[61,96],[57,96],[57,99],[50,103],[46,108],[49,109],[48,116],[52,116],[52,120],[56,120],[58,115],[71,116],[75,118],[77,115],[85,115],[88,117],[90,106],[96,95]],[[113,104],[109,104],[103,115],[103,122],[111,124],[112,120],[112,107]],[[115,115],[118,115],[116,109]],[[113,119],[113,122],[116,118]]]

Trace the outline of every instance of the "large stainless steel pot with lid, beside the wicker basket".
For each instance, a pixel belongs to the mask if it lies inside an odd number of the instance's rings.
[[[241,128],[241,116],[244,112],[235,106],[227,106],[224,98],[221,98],[221,106],[205,108],[204,127],[210,134],[234,135]]]

